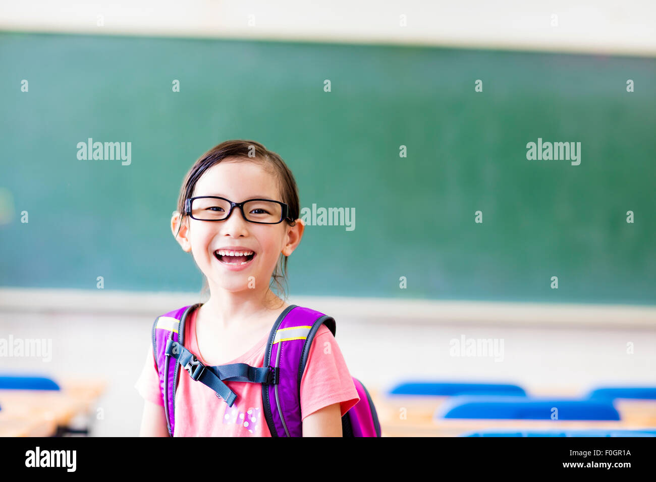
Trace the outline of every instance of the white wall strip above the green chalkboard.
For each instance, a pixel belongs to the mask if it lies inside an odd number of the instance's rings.
[[[405,26],[401,26],[402,16]],[[410,43],[653,56],[656,2],[3,0],[0,30]]]

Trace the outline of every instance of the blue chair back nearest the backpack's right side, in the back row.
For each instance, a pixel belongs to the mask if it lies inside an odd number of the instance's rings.
[[[401,382],[388,390],[388,395],[516,395],[526,396],[526,392],[518,385],[471,383],[471,382]]]

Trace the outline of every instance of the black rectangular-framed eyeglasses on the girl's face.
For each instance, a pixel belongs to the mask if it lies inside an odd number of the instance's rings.
[[[236,207],[245,220],[257,224],[278,224],[289,216],[289,207],[272,199],[247,199],[243,203],[233,203],[225,197],[196,196],[189,197],[184,203],[186,214],[199,221],[226,220]]]

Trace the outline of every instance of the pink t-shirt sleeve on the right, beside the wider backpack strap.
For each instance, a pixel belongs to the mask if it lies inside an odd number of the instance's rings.
[[[312,341],[300,380],[300,416],[339,403],[341,416],[359,401],[358,391],[333,333],[321,325]]]

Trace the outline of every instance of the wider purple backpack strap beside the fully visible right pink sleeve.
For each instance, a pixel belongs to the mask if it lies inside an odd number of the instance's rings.
[[[310,308],[290,305],[271,329],[264,365],[277,372],[277,384],[262,385],[262,405],[272,437],[302,436],[300,380],[312,340],[321,325],[335,335],[335,319]]]

